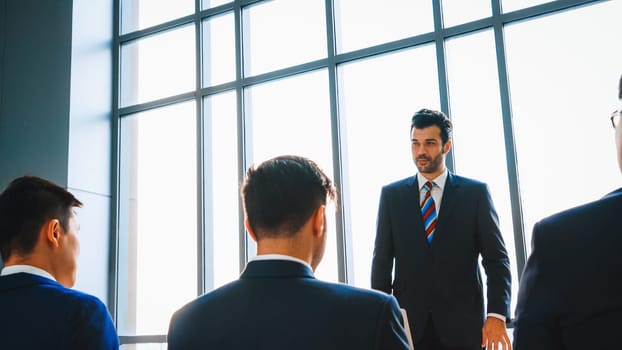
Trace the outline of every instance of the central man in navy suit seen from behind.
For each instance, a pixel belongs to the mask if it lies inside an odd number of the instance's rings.
[[[257,256],[239,280],[173,315],[168,349],[408,349],[393,297],[313,276],[334,196],[331,180],[306,158],[251,167],[242,198]]]

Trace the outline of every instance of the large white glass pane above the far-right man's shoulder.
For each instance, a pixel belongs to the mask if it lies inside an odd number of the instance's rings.
[[[537,220],[619,186],[620,13],[607,1],[506,28],[528,251]]]

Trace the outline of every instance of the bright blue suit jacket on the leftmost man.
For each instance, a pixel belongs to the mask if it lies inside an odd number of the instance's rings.
[[[0,349],[118,348],[108,309],[96,297],[28,273],[0,276]]]

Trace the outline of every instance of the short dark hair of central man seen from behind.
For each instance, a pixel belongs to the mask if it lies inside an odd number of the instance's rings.
[[[292,155],[250,167],[242,186],[246,217],[257,238],[294,235],[328,198],[335,198],[330,178],[312,160]]]

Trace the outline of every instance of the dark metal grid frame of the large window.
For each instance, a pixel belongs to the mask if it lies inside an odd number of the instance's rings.
[[[121,119],[125,116],[147,111],[150,109],[194,100],[196,104],[196,118],[197,118],[197,295],[205,293],[213,287],[213,282],[210,282],[211,277],[206,274],[207,263],[212,261],[213,252],[209,251],[209,247],[205,246],[206,239],[209,239],[207,235],[211,234],[206,228],[212,223],[210,215],[212,212],[212,206],[210,201],[206,200],[206,196],[209,195],[210,184],[213,179],[209,172],[206,171],[206,158],[209,155],[206,154],[205,146],[205,134],[206,127],[205,121],[205,108],[204,98],[207,96],[219,94],[227,91],[235,91],[236,93],[236,108],[237,108],[237,123],[238,123],[238,180],[241,183],[244,179],[247,166],[252,162],[249,158],[249,147],[252,142],[248,142],[250,130],[247,127],[250,126],[250,118],[247,116],[247,109],[245,105],[245,90],[246,88],[260,83],[269,82],[272,80],[291,77],[298,74],[302,74],[309,71],[318,69],[326,69],[328,71],[328,90],[330,95],[330,118],[332,127],[332,148],[333,148],[333,169],[334,169],[334,181],[336,186],[340,189],[338,191],[338,203],[336,213],[337,223],[337,260],[338,260],[338,278],[339,281],[348,283],[352,277],[352,237],[350,235],[350,203],[349,203],[349,188],[345,179],[347,176],[347,154],[342,152],[341,146],[345,140],[344,122],[340,118],[339,113],[339,82],[338,82],[338,66],[360,59],[374,57],[377,55],[395,52],[406,48],[414,48],[426,44],[434,44],[436,48],[437,56],[437,71],[439,82],[439,96],[441,110],[445,113],[450,112],[450,99],[449,99],[449,83],[447,78],[446,62],[445,62],[445,42],[452,37],[465,35],[473,32],[477,32],[483,29],[492,29],[495,39],[495,51],[497,55],[497,72],[499,78],[499,89],[501,98],[501,109],[503,119],[503,133],[506,149],[506,162],[508,169],[508,182],[510,191],[510,204],[513,221],[513,231],[516,249],[517,266],[515,272],[518,273],[520,278],[520,271],[523,270],[527,256],[525,249],[525,232],[521,207],[520,185],[518,179],[518,165],[516,158],[516,145],[514,141],[514,133],[512,126],[512,109],[511,99],[509,92],[508,72],[505,57],[505,41],[504,41],[504,27],[510,23],[530,20],[536,17],[550,15],[556,12],[565,11],[569,9],[575,9],[581,6],[604,2],[606,0],[558,0],[550,1],[544,4],[523,8],[520,10],[503,13],[501,0],[490,0],[492,6],[492,15],[485,18],[480,18],[467,23],[451,26],[445,28],[443,25],[442,14],[442,0],[432,0],[432,9],[434,17],[434,31],[415,35],[412,37],[386,42],[371,47],[366,47],[351,52],[338,53],[336,50],[336,33],[335,33],[335,14],[334,14],[334,0],[325,0],[325,13],[326,13],[326,39],[327,39],[327,57],[312,62],[305,62],[303,64],[278,69],[275,71],[254,75],[244,75],[244,40],[248,37],[244,28],[244,9],[250,5],[259,4],[265,2],[263,0],[234,0],[230,3],[220,5],[214,8],[202,9],[201,0],[195,0],[195,11],[193,14],[177,18],[165,23],[161,23],[149,28],[144,28],[131,33],[120,33],[120,7],[122,0],[114,0],[114,35],[113,35],[113,99],[112,99],[112,119],[113,119],[113,132],[112,132],[112,157],[113,157],[113,172],[111,174],[113,200],[112,200],[112,215],[111,215],[111,228],[113,232],[110,235],[110,277],[109,277],[109,298],[108,303],[111,306],[111,314],[113,319],[117,319],[117,301],[118,301],[118,234],[120,232],[119,218],[120,214],[120,123]],[[378,5],[382,6],[382,5]],[[234,14],[235,23],[235,41],[236,41],[236,73],[235,81],[203,87],[202,86],[202,53],[203,53],[203,40],[202,40],[202,23],[204,20],[218,16],[224,13]],[[146,103],[135,104],[131,106],[119,107],[119,93],[120,93],[120,48],[122,45],[131,42],[133,40],[142,39],[151,35],[155,35],[167,30],[175,29],[182,25],[187,24],[195,25],[195,45],[196,45],[196,85],[194,91],[187,91],[175,96],[168,96],[154,101]],[[247,120],[248,119],[248,120]],[[209,153],[209,152],[208,152]],[[448,157],[448,167],[454,168],[453,154],[450,153]],[[249,242],[244,228],[244,213],[242,209],[241,199],[238,202],[239,210],[239,252],[240,252],[240,270],[248,261],[249,249],[252,246],[252,242]],[[164,343],[166,342],[166,335],[134,335],[134,336],[120,336],[121,344],[140,344],[140,343]]]

